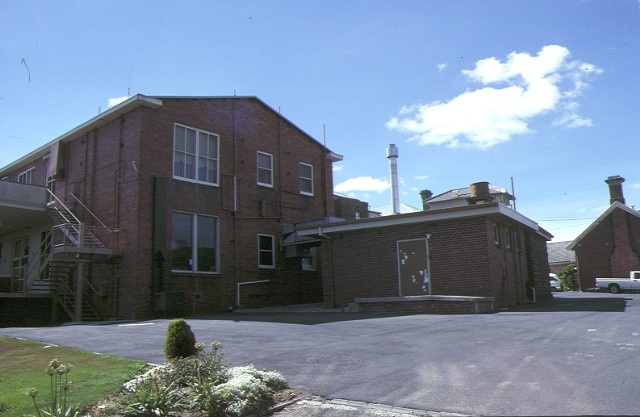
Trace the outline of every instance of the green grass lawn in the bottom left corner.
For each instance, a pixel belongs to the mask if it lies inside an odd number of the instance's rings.
[[[53,359],[73,366],[67,404],[82,407],[116,394],[124,382],[147,367],[144,361],[0,336],[0,417],[35,415],[26,394],[32,388],[38,391],[38,404],[49,405],[46,368]]]

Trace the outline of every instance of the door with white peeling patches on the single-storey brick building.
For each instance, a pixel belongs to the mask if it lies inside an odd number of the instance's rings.
[[[401,296],[429,295],[429,248],[427,239],[399,240],[398,281]]]

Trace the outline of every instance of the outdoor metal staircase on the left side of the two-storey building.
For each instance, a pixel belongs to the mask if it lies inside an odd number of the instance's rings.
[[[81,222],[54,194],[51,196],[47,207],[55,226],[42,236],[40,250],[27,266],[26,276],[32,278],[25,290],[32,295],[53,296],[72,320],[101,320],[102,314],[90,301],[99,294],[84,276],[84,265],[116,251],[105,246],[93,228]]]

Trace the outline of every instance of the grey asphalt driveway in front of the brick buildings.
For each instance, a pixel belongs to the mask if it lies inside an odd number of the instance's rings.
[[[188,319],[228,361],[326,398],[481,415],[638,415],[640,295],[567,293],[485,315],[253,312]],[[168,320],[0,334],[165,361]]]

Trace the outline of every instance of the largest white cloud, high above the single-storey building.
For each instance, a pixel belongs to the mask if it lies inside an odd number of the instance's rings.
[[[411,140],[420,145],[488,149],[531,133],[529,122],[547,113],[557,114],[554,126],[591,126],[591,119],[578,114],[575,100],[601,72],[593,64],[570,60],[569,50],[558,45],[533,56],[512,52],[504,62],[482,59],[462,71],[480,88],[447,102],[404,106],[387,127],[413,134]]]

